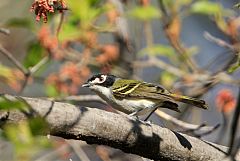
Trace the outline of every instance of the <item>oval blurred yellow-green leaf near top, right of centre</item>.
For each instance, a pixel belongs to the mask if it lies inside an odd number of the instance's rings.
[[[159,18],[161,16],[158,8],[154,6],[135,7],[128,14],[142,21]]]

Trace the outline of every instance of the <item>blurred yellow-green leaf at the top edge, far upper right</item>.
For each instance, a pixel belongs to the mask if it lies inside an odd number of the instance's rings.
[[[192,13],[206,14],[206,15],[232,15],[231,10],[226,10],[221,4],[209,1],[196,1],[191,6]]]

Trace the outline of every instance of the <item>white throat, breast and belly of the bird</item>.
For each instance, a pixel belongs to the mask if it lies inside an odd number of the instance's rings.
[[[114,98],[111,88],[106,88],[99,85],[93,85],[90,88],[94,90],[103,100],[109,103],[113,108],[127,114],[139,111],[137,115],[143,115],[153,110],[156,105],[155,102],[147,99],[117,100]]]

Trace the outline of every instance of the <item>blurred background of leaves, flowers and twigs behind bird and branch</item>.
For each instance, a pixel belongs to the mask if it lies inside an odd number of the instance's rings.
[[[2,0],[0,93],[48,97],[114,112],[81,88],[92,74],[158,83],[172,92],[204,99],[209,109],[184,104],[182,113],[161,109],[200,125],[196,129],[177,125],[157,112],[149,120],[229,146],[240,84],[238,3]],[[36,129],[44,129],[43,125],[30,120],[1,130],[0,160],[144,160],[107,146],[39,136]],[[234,138],[240,137],[239,130],[235,134]]]

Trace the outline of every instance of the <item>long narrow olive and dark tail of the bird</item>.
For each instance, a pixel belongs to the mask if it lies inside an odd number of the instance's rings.
[[[187,103],[203,109],[208,109],[208,105],[204,100],[199,100],[199,99],[188,97],[188,96],[181,96],[173,93],[169,94],[169,96],[175,101]]]

